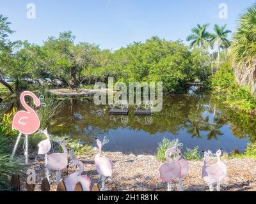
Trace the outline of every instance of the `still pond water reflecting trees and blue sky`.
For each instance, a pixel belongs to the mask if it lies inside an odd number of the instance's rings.
[[[109,115],[109,106],[94,105],[92,99],[63,101],[51,131],[69,135],[95,145],[95,137],[106,135],[104,150],[125,154],[154,154],[164,137],[178,138],[186,147],[225,152],[243,152],[255,141],[256,120],[228,110],[207,95],[172,95],[163,99],[163,110],[152,116],[136,117],[132,106],[129,115]]]

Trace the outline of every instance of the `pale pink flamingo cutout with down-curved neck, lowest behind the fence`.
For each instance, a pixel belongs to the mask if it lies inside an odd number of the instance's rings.
[[[84,164],[79,160],[72,160],[68,166],[78,166],[79,170],[68,175],[68,177],[64,179],[67,191],[74,191],[77,182],[81,183],[83,191],[90,191],[92,181],[86,175],[81,175],[84,172]]]

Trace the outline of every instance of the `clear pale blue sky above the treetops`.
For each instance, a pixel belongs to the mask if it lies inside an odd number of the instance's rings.
[[[27,4],[36,6],[36,18],[27,18]],[[219,5],[228,5],[228,18],[219,18]],[[96,43],[116,50],[153,35],[186,40],[197,23],[227,24],[236,28],[237,15],[255,0],[0,0],[0,13],[16,31],[11,40],[41,45],[47,36],[72,31],[76,42]],[[210,29],[210,31],[211,31]]]

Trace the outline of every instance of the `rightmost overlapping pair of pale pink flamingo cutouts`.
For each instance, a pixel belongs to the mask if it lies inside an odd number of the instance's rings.
[[[202,164],[202,178],[208,184],[210,191],[214,190],[213,184],[217,183],[217,191],[220,191],[220,183],[227,175],[227,166],[220,159],[221,149],[212,154],[210,150],[204,152],[204,161]],[[217,157],[217,163],[211,166],[207,165],[210,156]]]

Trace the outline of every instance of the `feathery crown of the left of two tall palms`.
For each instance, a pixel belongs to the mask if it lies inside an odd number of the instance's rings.
[[[209,24],[200,25],[197,24],[196,27],[191,29],[192,34],[187,38],[187,41],[191,41],[191,48],[207,48],[213,35],[207,32],[207,27]]]

